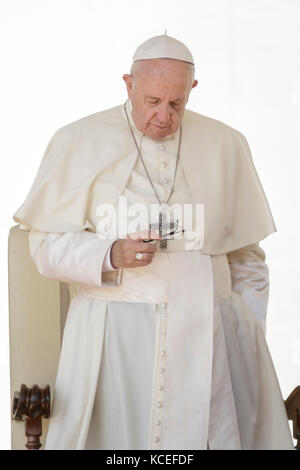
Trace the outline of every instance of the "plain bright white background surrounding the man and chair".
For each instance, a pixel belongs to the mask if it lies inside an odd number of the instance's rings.
[[[267,341],[284,399],[300,385],[300,1],[2,0],[0,446],[10,448],[7,237],[52,134],[126,99],[136,47],[186,43],[197,88],[188,108],[248,139],[277,233]],[[17,345],[14,345],[17,347]],[[29,384],[28,384],[29,385]]]

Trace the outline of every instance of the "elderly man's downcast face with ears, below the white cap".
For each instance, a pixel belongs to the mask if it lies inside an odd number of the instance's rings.
[[[136,128],[155,140],[173,134],[179,127],[191,83],[187,63],[171,59],[151,59],[138,63],[134,76],[124,75],[132,118]]]

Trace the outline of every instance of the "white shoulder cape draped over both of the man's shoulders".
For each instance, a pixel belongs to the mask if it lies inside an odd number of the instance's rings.
[[[122,105],[68,124],[51,138],[13,218],[25,229],[95,231],[87,216],[93,185],[99,185],[99,203],[117,203],[136,158]],[[186,110],[180,158],[194,202],[204,204],[203,254],[237,250],[276,231],[240,132]]]

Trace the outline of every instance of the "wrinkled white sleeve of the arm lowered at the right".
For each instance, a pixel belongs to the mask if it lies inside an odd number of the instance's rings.
[[[227,253],[232,290],[240,294],[266,333],[269,269],[259,243]]]

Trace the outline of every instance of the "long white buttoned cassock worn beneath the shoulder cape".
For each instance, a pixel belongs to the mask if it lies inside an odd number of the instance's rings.
[[[125,121],[121,107],[118,113]],[[86,127],[86,119],[81,122]],[[131,117],[130,122],[134,127]],[[165,200],[179,132],[160,142],[134,132]],[[136,153],[132,162],[119,195],[128,206],[156,203]],[[186,177],[182,163],[170,204],[195,201],[192,177]],[[46,161],[47,169],[51,172]],[[259,241],[274,231],[271,222],[258,224],[256,233],[249,229],[249,238],[235,234],[231,243],[228,237],[229,249],[216,241],[215,250],[205,252],[198,234],[188,249],[182,240],[168,242],[167,251],[158,250],[146,267],[104,272],[111,240],[95,232],[99,201],[113,199],[112,171],[116,167],[108,166],[101,184],[93,179],[89,185],[88,223],[81,230],[78,223],[73,230],[67,222],[60,225],[55,214],[49,221],[45,213],[33,220],[19,210],[15,218],[31,230],[31,256],[39,272],[68,282],[72,293],[45,449],[292,450],[265,340],[269,280]],[[44,191],[49,198],[53,187]],[[224,212],[229,217],[226,203]],[[57,230],[51,225],[56,220]],[[218,232],[217,222],[215,227]]]

